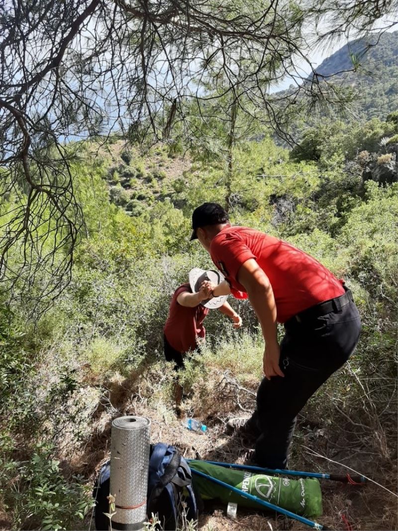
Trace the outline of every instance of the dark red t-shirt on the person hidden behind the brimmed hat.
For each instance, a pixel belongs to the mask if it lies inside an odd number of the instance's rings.
[[[178,304],[177,297],[184,292],[192,293],[189,284],[183,284],[175,290],[163,329],[169,344],[181,353],[195,350],[196,338],[204,339],[206,330],[203,321],[209,313],[209,308],[205,308],[202,304],[194,308]]]

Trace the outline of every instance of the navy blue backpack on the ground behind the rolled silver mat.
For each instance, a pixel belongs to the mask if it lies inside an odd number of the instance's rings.
[[[110,461],[105,463],[94,485],[95,523],[97,531],[107,531],[109,519]],[[186,520],[197,520],[200,496],[193,490],[191,470],[179,451],[169,444],[151,444],[146,514],[158,515],[165,531],[182,528]]]

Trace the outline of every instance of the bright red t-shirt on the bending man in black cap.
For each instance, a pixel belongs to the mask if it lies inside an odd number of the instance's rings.
[[[247,297],[245,288],[237,280],[239,268],[246,260],[254,258],[270,279],[280,323],[344,293],[342,281],[315,258],[258,230],[223,228],[211,242],[210,255],[237,298]]]

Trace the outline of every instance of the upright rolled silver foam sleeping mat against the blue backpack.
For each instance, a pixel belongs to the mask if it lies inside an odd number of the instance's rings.
[[[146,491],[151,421],[145,417],[119,417],[112,423],[110,494],[115,496],[115,531],[139,531],[146,520]]]

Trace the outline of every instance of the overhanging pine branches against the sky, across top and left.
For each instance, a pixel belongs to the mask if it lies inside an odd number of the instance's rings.
[[[174,142],[173,131],[189,141],[197,122],[188,109],[206,119],[218,101],[229,117],[235,106],[289,140],[298,110],[347,101],[333,76],[310,67],[309,44],[367,35],[394,11],[392,1],[367,0],[3,3],[1,193],[14,198],[0,212],[7,287],[31,292],[45,270],[51,280],[38,293],[53,298],[70,276],[84,220],[68,142],[115,130],[141,144]],[[295,90],[273,96],[287,75]]]

